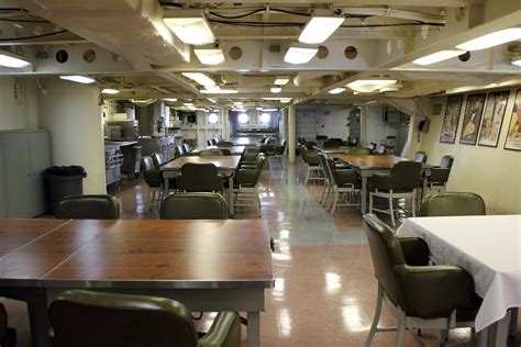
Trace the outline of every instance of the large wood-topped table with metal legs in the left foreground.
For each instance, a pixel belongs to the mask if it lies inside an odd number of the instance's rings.
[[[0,296],[27,303],[32,346],[48,346],[47,306],[70,289],[246,312],[247,344],[258,346],[273,286],[260,220],[0,220]]]

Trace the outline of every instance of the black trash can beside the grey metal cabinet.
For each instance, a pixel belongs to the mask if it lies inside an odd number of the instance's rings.
[[[47,212],[55,214],[58,203],[65,197],[84,193],[84,178],[87,172],[81,166],[53,166],[45,170],[45,197]]]

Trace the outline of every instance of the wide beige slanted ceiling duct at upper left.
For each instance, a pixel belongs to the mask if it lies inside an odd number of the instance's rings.
[[[190,47],[163,22],[155,0],[22,0],[21,5],[56,25],[132,61],[140,70],[151,65],[189,61]]]

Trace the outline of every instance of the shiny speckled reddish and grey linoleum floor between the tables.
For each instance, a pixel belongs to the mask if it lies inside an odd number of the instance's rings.
[[[299,165],[282,169],[274,161],[260,178],[262,219],[277,242],[275,288],[266,292],[266,311],[260,315],[262,345],[363,346],[377,283],[361,214],[354,208],[339,208],[331,216],[318,201],[320,184],[303,187],[299,174]],[[157,208],[148,211],[148,191],[142,181],[123,181],[111,192],[121,198],[123,219],[158,217]],[[255,219],[256,213],[241,206],[235,217]],[[19,346],[30,346],[24,304],[5,303],[10,324],[19,332]],[[208,327],[211,316],[206,315],[199,327]],[[396,324],[386,310],[380,322]],[[520,337],[511,338],[509,346],[519,346]],[[377,334],[373,346],[393,346],[393,333]],[[424,331],[421,338],[426,346],[437,346],[435,331]],[[411,333],[406,334],[404,345],[417,346]],[[476,337],[468,328],[454,329],[447,345],[475,346]]]

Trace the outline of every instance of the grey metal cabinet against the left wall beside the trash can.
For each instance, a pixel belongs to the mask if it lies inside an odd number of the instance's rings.
[[[48,132],[1,132],[0,137],[7,216],[34,217],[44,213],[43,171],[51,166]]]

